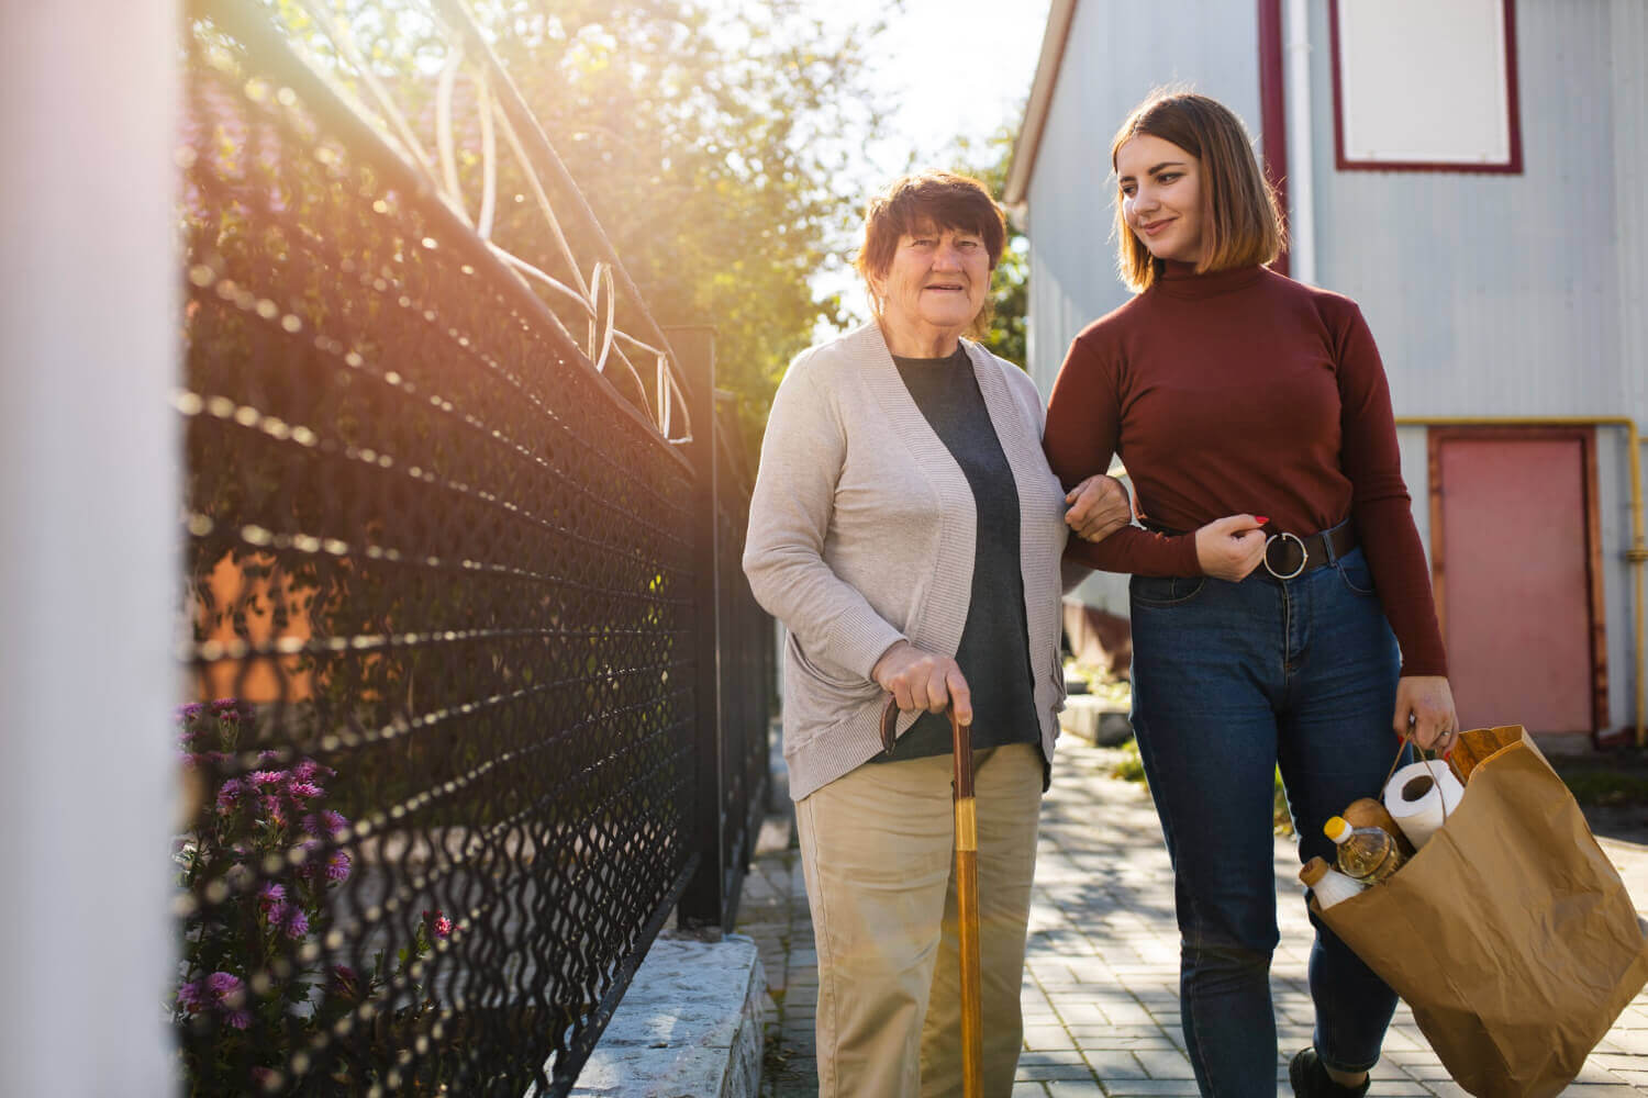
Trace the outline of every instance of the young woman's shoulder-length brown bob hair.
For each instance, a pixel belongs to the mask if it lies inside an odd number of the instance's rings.
[[[1122,145],[1140,133],[1172,142],[1201,161],[1201,234],[1196,273],[1269,263],[1282,254],[1282,212],[1252,155],[1248,130],[1224,104],[1183,91],[1152,92],[1111,142],[1111,168]],[[1127,226],[1116,193],[1116,265],[1140,293],[1162,275],[1162,260]]]

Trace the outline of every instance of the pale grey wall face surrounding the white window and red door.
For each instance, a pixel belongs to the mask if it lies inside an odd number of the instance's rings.
[[[1398,416],[1648,425],[1645,5],[1518,0],[1521,174],[1340,171],[1327,7],[1310,5],[1317,281],[1361,305]],[[1426,428],[1401,435],[1429,547]],[[1633,719],[1630,459],[1599,428],[1612,728]]]

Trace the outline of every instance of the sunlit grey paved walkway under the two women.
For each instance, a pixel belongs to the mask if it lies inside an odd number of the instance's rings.
[[[1107,777],[1116,757],[1116,751],[1070,736],[1060,741],[1053,789],[1042,810],[1023,988],[1025,1052],[1014,1098],[1196,1093],[1178,1026],[1178,933],[1167,851],[1144,787]],[[1607,840],[1604,848],[1638,909],[1648,912],[1648,849]],[[1276,872],[1282,945],[1271,983],[1280,1054],[1292,1055],[1310,1042],[1312,1009],[1305,988],[1310,924],[1289,840],[1277,840]],[[788,813],[766,820],[738,922],[761,950],[773,994],[761,1093],[812,1098],[817,956]],[[1447,1080],[1406,1006],[1398,1009],[1373,1077],[1369,1095],[1465,1095]],[[1648,994],[1625,1009],[1585,1072],[1562,1093],[1625,1098],[1645,1091]],[[1280,1057],[1277,1093],[1292,1095]]]

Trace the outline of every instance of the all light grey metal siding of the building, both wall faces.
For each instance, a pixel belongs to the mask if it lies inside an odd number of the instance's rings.
[[[1518,0],[1521,174],[1338,171],[1327,5],[1310,0],[1317,281],[1361,305],[1398,415],[1628,415],[1648,428],[1648,3]],[[1168,0],[1145,23],[1078,3],[1028,188],[1028,365],[1043,395],[1070,339],[1127,298],[1109,239],[1116,125],[1150,87],[1190,81],[1256,130],[1257,58],[1251,3]],[[1401,436],[1429,542],[1426,430]],[[1623,431],[1597,441],[1620,726],[1635,667],[1632,456]],[[1081,594],[1126,612],[1114,579]]]

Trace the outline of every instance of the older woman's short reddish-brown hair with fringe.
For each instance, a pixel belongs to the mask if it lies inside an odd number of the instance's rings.
[[[870,309],[877,316],[882,314],[882,303],[875,295],[875,283],[892,270],[900,237],[926,227],[979,234],[990,257],[990,270],[995,270],[1002,249],[1007,247],[1007,216],[990,198],[989,188],[977,179],[954,171],[920,171],[893,181],[865,207],[864,247],[852,263],[870,291]],[[986,301],[974,329],[987,323],[989,311]]]

